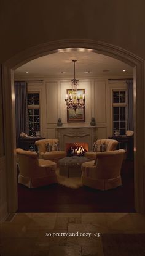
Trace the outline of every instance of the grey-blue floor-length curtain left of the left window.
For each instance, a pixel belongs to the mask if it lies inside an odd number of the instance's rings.
[[[28,133],[27,83],[15,82],[16,142],[22,131]]]

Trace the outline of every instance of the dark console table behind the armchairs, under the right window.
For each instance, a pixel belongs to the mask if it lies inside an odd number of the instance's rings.
[[[127,159],[133,160],[133,136],[111,136],[108,139],[116,139],[119,142],[117,149],[124,148],[127,151]]]

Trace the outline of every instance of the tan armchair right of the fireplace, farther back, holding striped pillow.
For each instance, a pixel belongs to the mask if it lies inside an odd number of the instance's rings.
[[[116,141],[115,139],[98,139],[96,141],[98,147],[100,147],[103,143],[106,144],[106,151],[114,151],[116,150],[116,147],[118,145],[118,141]],[[85,153],[85,157],[87,157],[88,159],[95,160],[96,152],[88,151]]]

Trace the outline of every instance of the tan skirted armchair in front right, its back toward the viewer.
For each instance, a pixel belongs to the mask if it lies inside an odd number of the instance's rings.
[[[124,149],[97,152],[95,161],[82,163],[82,184],[100,190],[121,186],[120,171],[124,154]]]

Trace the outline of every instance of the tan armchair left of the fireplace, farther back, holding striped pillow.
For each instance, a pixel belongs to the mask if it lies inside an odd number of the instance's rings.
[[[57,166],[58,166],[58,161],[61,158],[66,157],[66,152],[65,151],[47,152],[47,143],[50,143],[50,144],[58,143],[58,139],[40,139],[39,141],[36,141],[35,144],[38,147],[39,158],[52,160],[53,162],[57,163]]]

